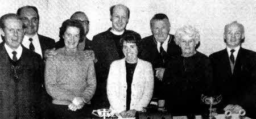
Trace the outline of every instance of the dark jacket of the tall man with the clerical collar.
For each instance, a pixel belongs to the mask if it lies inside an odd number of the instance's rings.
[[[94,36],[92,40],[92,50],[98,60],[97,63],[95,63],[97,89],[92,100],[93,105],[96,104],[95,108],[109,107],[108,97],[106,95],[106,81],[108,78],[109,67],[113,61],[120,59],[117,52],[117,46],[115,46],[115,41],[113,40],[110,30],[111,28],[105,32],[99,33]],[[130,32],[134,31],[125,29],[123,35]],[[135,34],[137,39],[140,40],[141,36],[136,32]]]

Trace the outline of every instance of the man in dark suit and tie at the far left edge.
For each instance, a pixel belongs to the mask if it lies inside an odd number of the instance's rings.
[[[18,15],[3,15],[0,26],[0,118],[40,118],[42,58],[20,44],[24,29]]]

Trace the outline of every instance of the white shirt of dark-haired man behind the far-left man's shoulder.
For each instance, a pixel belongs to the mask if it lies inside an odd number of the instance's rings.
[[[33,37],[31,37],[33,40],[32,40],[32,44],[34,45],[35,47],[35,52],[40,54],[41,58],[43,57],[43,54],[42,54],[42,49],[41,49],[41,45],[40,45],[40,42],[39,42],[39,38],[38,38],[38,33],[36,33]],[[27,49],[30,49],[30,37],[24,35],[24,38],[23,38],[23,41],[22,41],[22,45],[25,46]]]

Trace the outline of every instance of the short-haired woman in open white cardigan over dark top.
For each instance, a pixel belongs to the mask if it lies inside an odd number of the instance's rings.
[[[112,112],[131,118],[150,103],[154,76],[151,63],[137,57],[139,41],[134,32],[122,36],[120,43],[125,58],[110,65],[107,94]]]

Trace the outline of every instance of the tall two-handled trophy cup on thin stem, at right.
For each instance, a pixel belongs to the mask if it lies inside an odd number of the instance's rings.
[[[212,118],[214,117],[212,105],[216,105],[216,104],[220,103],[221,99],[222,99],[222,96],[221,96],[221,95],[220,95],[220,96],[217,96],[217,97],[208,97],[208,96],[204,96],[204,95],[202,94],[201,100],[202,100],[205,104],[210,105],[210,108],[209,108],[209,111],[210,111],[210,113],[209,113],[209,118],[210,118],[210,119],[212,119]]]

